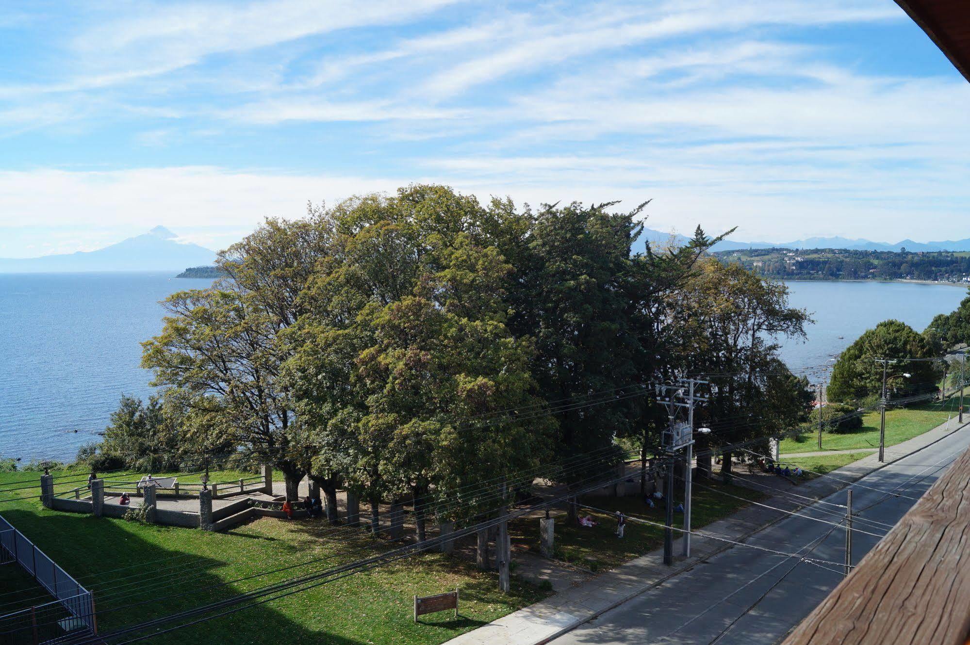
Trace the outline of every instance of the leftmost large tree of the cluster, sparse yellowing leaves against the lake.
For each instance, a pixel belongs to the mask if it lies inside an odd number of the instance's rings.
[[[220,440],[280,468],[290,500],[307,473],[307,448],[279,379],[290,354],[282,332],[299,319],[299,295],[330,253],[329,224],[313,209],[302,220],[267,219],[219,254],[226,277],[164,301],[162,333],[143,343],[154,384],[204,414]]]

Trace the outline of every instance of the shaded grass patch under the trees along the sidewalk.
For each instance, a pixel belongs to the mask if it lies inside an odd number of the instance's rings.
[[[747,502],[727,497],[730,493],[745,500],[762,500],[766,496],[757,491],[740,486],[728,486],[720,482],[703,481],[704,486],[694,487],[694,507],[691,512],[691,526],[698,529],[715,520],[725,517]],[[721,491],[721,492],[717,492]],[[683,499],[682,489],[676,496]],[[634,522],[627,523],[623,539],[616,536],[616,517],[612,514],[621,510],[628,515],[636,515],[647,520],[663,523],[663,505],[650,508],[640,497],[606,498],[591,497],[580,500],[591,506],[610,511],[600,513],[580,508],[580,515],[592,515],[599,526],[594,528],[570,525],[566,522],[566,512],[551,513],[556,517],[556,557],[567,563],[578,564],[593,570],[612,568],[642,556],[663,546],[663,529]],[[682,513],[674,515],[674,526],[682,526]],[[674,537],[683,533],[675,532]],[[509,536],[513,544],[522,544],[531,551],[539,551],[538,518],[522,518],[509,524]]]

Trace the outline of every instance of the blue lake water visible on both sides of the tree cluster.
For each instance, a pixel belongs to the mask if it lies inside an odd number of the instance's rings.
[[[161,329],[158,301],[209,284],[170,274],[0,274],[0,455],[70,460],[97,440],[122,393],[151,392],[139,342]],[[789,286],[792,306],[816,323],[807,343],[787,343],[783,354],[792,370],[811,375],[879,321],[922,330],[965,294],[947,285]]]

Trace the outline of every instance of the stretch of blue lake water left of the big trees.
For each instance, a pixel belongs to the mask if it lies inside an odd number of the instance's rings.
[[[158,301],[211,280],[172,274],[0,274],[0,455],[71,459],[122,393],[148,395],[139,342]]]

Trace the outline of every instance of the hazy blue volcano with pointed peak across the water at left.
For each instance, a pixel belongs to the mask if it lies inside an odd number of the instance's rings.
[[[144,235],[99,248],[37,258],[0,258],[3,274],[61,274],[86,271],[182,271],[210,265],[215,252],[178,236],[164,226]]]

